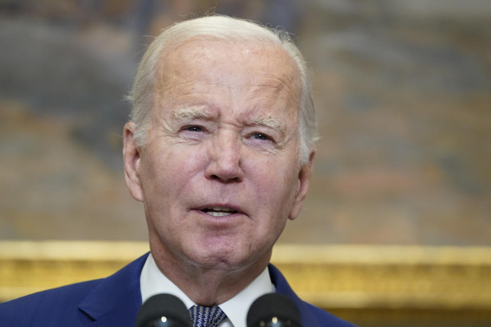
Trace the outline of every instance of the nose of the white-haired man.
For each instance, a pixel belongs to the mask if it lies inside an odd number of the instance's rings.
[[[241,140],[234,134],[220,133],[210,141],[206,177],[223,183],[242,181]]]

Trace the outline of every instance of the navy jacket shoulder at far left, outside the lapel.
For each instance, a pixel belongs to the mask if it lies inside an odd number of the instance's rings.
[[[0,326],[79,325],[88,317],[78,310],[80,301],[101,279],[66,285],[0,303]]]

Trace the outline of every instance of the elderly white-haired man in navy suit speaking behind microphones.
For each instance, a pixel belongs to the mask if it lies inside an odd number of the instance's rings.
[[[244,327],[254,299],[279,292],[303,326],[351,325],[300,300],[269,265],[305,199],[316,135],[287,35],[224,16],[176,24],[150,45],[129,99],[125,179],[144,204],[150,253],[99,281],[4,303],[0,324],[133,326],[142,300],[170,293]]]

